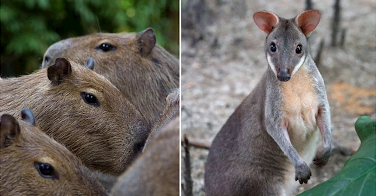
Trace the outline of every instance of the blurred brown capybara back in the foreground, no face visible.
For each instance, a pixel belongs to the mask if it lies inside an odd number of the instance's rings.
[[[118,178],[111,196],[179,196],[179,117],[157,132]]]

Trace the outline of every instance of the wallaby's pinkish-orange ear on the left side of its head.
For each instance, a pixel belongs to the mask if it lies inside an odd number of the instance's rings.
[[[253,14],[256,25],[265,33],[269,34],[278,25],[279,18],[272,12],[256,12]]]

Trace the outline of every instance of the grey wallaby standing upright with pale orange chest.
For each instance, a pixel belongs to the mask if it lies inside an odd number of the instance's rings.
[[[257,12],[253,19],[267,33],[269,66],[212,142],[207,196],[291,195],[299,185],[295,181],[309,180],[312,160],[324,166],[331,154],[329,103],[307,40],[320,12],[291,19]]]

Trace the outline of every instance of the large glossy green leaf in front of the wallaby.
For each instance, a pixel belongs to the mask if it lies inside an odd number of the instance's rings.
[[[376,195],[376,120],[358,118],[355,130],[361,145],[346,160],[343,169],[331,179],[298,196],[371,196]]]

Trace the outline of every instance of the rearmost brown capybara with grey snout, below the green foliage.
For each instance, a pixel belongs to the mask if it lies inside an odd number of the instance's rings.
[[[149,124],[164,109],[170,90],[179,87],[179,60],[156,44],[152,28],[61,40],[47,49],[42,67],[51,66],[59,56],[79,64],[94,58],[94,71],[112,82]]]

